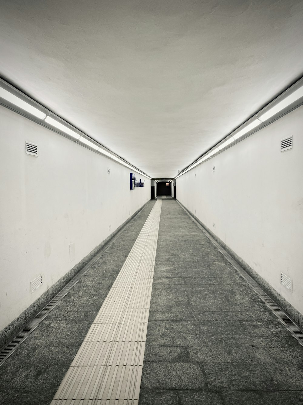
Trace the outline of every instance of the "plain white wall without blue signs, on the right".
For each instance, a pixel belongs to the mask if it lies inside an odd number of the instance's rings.
[[[301,313],[302,132],[299,107],[185,173],[176,186],[177,199]],[[281,139],[290,135],[293,149],[281,152]],[[280,284],[281,272],[292,278],[292,292]]]

